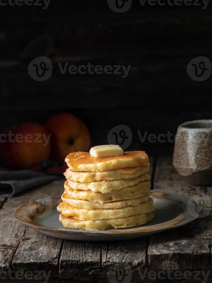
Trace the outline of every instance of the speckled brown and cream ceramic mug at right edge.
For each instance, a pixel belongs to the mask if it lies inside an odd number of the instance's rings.
[[[212,120],[179,125],[172,163],[189,183],[212,185]]]

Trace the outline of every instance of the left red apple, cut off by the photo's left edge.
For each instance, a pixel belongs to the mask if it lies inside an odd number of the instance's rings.
[[[0,134],[0,156],[8,167],[25,169],[38,165],[49,154],[50,134],[39,123],[24,122]]]

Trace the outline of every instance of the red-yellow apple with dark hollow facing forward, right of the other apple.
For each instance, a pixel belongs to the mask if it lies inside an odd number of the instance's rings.
[[[45,124],[51,133],[51,157],[61,162],[70,152],[87,151],[91,144],[85,124],[70,113],[52,116]]]

